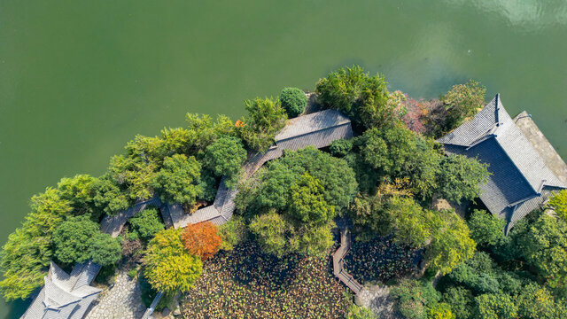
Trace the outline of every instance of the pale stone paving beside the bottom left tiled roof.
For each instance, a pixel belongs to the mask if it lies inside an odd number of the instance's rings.
[[[145,311],[140,293],[137,280],[122,271],[113,287],[98,296],[98,304],[90,308],[85,319],[139,319]]]

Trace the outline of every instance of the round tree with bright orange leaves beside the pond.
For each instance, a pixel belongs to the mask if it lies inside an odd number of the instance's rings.
[[[182,239],[187,251],[201,257],[202,260],[213,257],[222,242],[219,230],[212,222],[187,225],[183,229]]]

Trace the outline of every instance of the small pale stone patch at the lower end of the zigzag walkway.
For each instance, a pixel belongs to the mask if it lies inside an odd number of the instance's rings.
[[[397,319],[393,311],[393,300],[390,298],[390,289],[376,284],[365,286],[355,297],[355,302],[361,307],[372,310],[380,319]]]

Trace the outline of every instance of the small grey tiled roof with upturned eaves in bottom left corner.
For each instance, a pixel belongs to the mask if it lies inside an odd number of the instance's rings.
[[[100,266],[88,261],[77,264],[71,274],[67,274],[51,262],[50,271],[44,277],[45,285],[20,319],[82,319],[101,292],[89,286],[98,270]]]

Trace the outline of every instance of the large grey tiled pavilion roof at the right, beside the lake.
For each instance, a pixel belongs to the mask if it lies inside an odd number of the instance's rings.
[[[471,121],[438,140],[447,153],[462,154],[489,165],[492,175],[480,185],[485,206],[508,222],[507,231],[552,191],[567,188],[517,128],[499,95]]]

